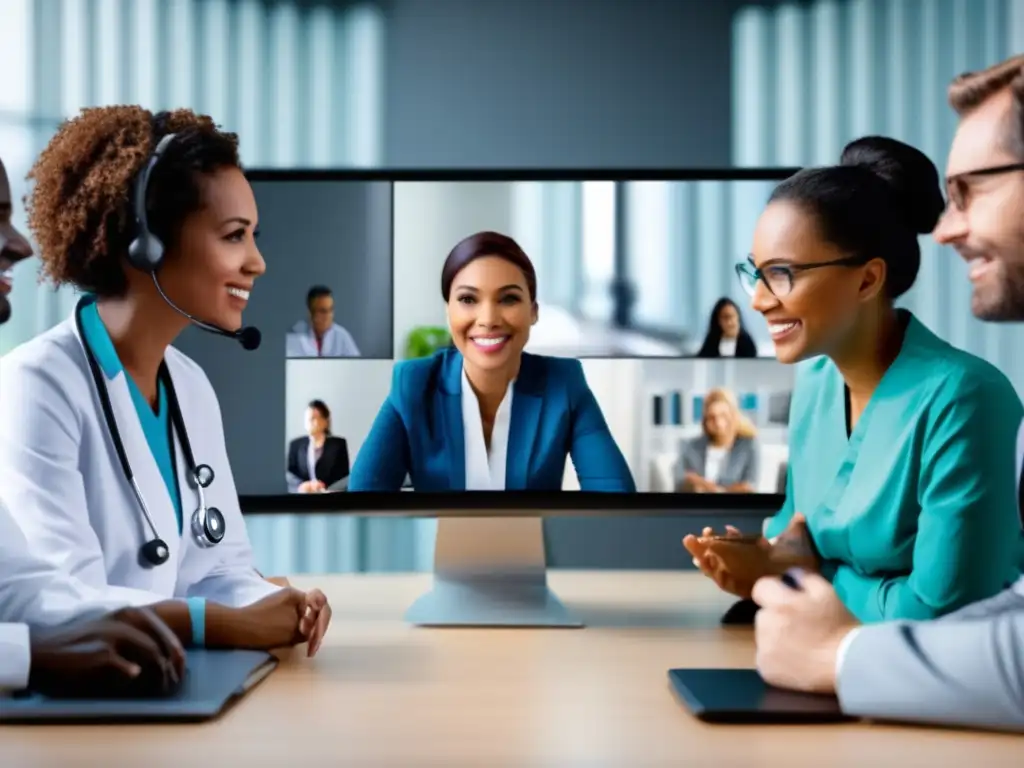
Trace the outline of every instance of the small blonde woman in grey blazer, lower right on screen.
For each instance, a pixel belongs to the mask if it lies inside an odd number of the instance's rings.
[[[728,389],[705,396],[702,434],[682,440],[676,489],[689,494],[753,494],[760,470],[757,429]]]

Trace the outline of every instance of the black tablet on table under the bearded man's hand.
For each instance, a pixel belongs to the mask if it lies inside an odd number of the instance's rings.
[[[768,685],[757,670],[669,670],[690,712],[710,723],[836,723],[848,720],[833,695]]]

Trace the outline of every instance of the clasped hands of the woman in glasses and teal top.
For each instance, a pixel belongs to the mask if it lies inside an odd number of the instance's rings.
[[[754,585],[762,577],[779,575],[793,567],[817,572],[821,565],[807,520],[799,512],[774,544],[761,536],[744,537],[727,525],[725,536],[705,528],[699,537],[691,534],[683,539],[683,546],[705,575],[744,600],[751,599]]]

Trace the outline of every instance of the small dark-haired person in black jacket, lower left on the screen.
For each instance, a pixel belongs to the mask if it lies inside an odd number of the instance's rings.
[[[348,477],[348,442],[331,434],[331,410],[324,400],[306,407],[306,436],[288,445],[288,490],[317,494]]]

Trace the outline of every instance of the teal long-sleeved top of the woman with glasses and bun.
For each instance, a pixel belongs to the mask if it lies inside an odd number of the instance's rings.
[[[933,618],[1018,578],[1024,407],[1006,376],[911,315],[848,436],[836,366],[817,357],[800,369],[785,504],[767,537],[804,513],[823,573],[865,623]]]

